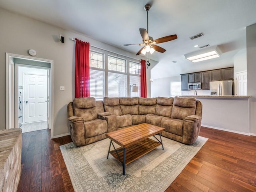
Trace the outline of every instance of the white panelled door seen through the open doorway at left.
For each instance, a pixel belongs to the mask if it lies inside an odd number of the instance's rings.
[[[47,120],[47,76],[25,74],[25,123]]]

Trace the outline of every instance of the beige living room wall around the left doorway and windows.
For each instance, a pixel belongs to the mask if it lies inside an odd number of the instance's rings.
[[[82,34],[64,30],[38,20],[34,20],[0,8],[0,98],[5,100],[5,53],[28,56],[28,50],[36,50],[37,58],[53,60],[53,125],[54,136],[67,134],[67,104],[74,99],[74,72],[75,42],[71,38],[78,38],[90,42],[90,45],[123,54],[132,58],[144,59],[135,56],[117,47],[104,44],[97,40],[88,38]],[[65,37],[65,42],[58,39],[59,34]],[[114,55],[114,54],[112,54]],[[117,56],[117,54],[116,54]],[[150,69],[157,62],[150,60],[151,66],[147,70],[148,97],[150,97]],[[60,91],[60,86],[65,86],[65,91]],[[5,102],[4,102],[5,103]],[[12,109],[12,111],[14,111]],[[5,107],[0,108],[0,130],[5,129]]]

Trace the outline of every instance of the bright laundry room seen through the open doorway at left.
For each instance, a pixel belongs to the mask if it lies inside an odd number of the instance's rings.
[[[18,64],[16,60],[14,64],[18,68],[19,127],[23,133],[47,129],[49,69]],[[27,61],[23,61],[25,62]]]

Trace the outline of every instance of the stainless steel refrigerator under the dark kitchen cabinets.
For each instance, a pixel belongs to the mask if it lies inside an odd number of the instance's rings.
[[[233,80],[210,81],[210,95],[233,95]]]

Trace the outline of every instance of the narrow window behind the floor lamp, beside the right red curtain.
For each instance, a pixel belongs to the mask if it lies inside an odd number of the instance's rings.
[[[130,72],[130,86],[136,84],[138,87],[138,92],[132,92],[130,87],[131,97],[140,97],[140,64],[130,61],[129,62],[129,72]]]

